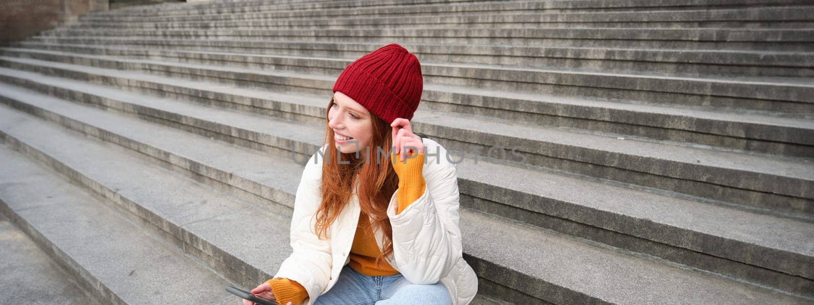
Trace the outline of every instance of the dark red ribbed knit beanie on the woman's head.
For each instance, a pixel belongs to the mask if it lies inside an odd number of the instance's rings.
[[[423,89],[418,58],[405,47],[391,43],[345,67],[333,90],[392,123],[396,118],[413,119]]]

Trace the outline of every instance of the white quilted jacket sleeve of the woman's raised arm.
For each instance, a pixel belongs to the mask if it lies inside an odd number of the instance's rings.
[[[427,161],[422,176],[426,188],[397,214],[400,190],[396,189],[387,216],[392,224],[393,255],[399,272],[414,284],[431,285],[449,273],[463,252],[457,168],[444,147],[430,139],[423,141]]]

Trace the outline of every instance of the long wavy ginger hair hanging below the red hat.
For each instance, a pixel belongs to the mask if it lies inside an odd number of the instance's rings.
[[[357,184],[357,196],[362,215],[372,217],[371,225],[383,232],[383,251],[376,258],[376,266],[380,260],[391,255],[392,227],[387,218],[387,206],[392,194],[396,192],[399,179],[387,154],[392,147],[392,127],[376,115],[370,115],[372,137],[368,143],[369,149],[360,147],[358,152],[340,153],[334,145],[334,130],[328,126],[328,111],[334,106],[334,98],[330,98],[325,114],[325,139],[322,145],[326,148],[325,159],[330,162],[322,163],[322,203],[317,209],[317,223],[314,229],[317,237],[327,236],[326,230],[330,227],[339,212],[348,205],[353,195],[352,185]],[[377,147],[381,147],[379,153]],[[367,157],[365,158],[365,154]],[[339,162],[337,162],[339,156]],[[365,162],[369,160],[370,162]],[[376,160],[379,160],[376,162]]]

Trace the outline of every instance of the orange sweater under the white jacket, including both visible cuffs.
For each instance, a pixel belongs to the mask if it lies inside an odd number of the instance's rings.
[[[416,154],[418,156],[414,159],[405,158],[404,162],[399,160],[400,154],[392,155],[391,163],[396,175],[399,176],[396,214],[404,211],[409,207],[410,203],[421,197],[427,187],[422,175],[424,153],[413,153],[413,155]],[[398,274],[399,272],[384,260],[379,262],[381,268],[376,267],[376,257],[379,254],[381,254],[381,251],[371,230],[370,220],[365,213],[360,213],[359,225],[357,225],[356,235],[353,237],[351,253],[348,255],[350,257],[348,264],[357,272],[371,277]],[[271,290],[274,292],[274,298],[277,298],[278,304],[285,305],[291,302],[291,305],[300,305],[305,298],[308,298],[308,291],[296,281],[291,281],[285,277],[275,277],[266,282],[271,285]]]

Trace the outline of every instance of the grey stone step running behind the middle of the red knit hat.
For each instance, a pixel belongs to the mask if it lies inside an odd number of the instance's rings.
[[[151,71],[167,76],[194,77],[244,86],[272,85],[309,94],[329,90],[339,72],[352,63],[350,59],[300,58],[304,65],[313,64],[314,67],[300,70],[308,72],[301,73],[278,70],[276,66],[274,70],[269,70],[48,50],[0,50],[4,54],[23,58]],[[814,96],[814,85],[804,77],[699,78],[463,63],[422,63],[422,76],[425,83],[431,85],[489,88],[502,92],[612,98],[626,102],[658,101],[663,105],[707,106],[723,110],[793,112],[800,117],[814,113],[814,100],[809,98]]]

